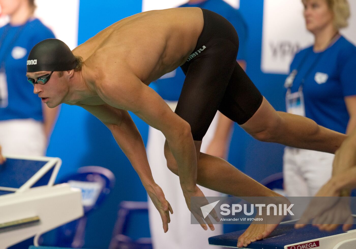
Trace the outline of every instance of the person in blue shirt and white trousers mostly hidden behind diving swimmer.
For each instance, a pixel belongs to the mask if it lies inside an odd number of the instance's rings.
[[[245,53],[247,25],[238,10],[223,0],[190,0],[186,4],[179,7],[200,7],[212,10],[229,20],[239,35],[239,52],[237,54],[237,61],[242,68],[246,68]],[[162,76],[153,83],[153,88],[167,102],[172,110],[176,108],[179,95],[183,87],[184,78],[185,76],[182,69],[177,68],[173,72]],[[221,146],[221,137],[217,135],[219,134],[219,128],[224,129],[226,126],[231,128],[232,124],[233,122],[230,119],[220,113],[217,114],[204,136],[201,151],[204,152],[210,149],[210,152],[207,151],[206,153],[214,156],[224,154],[226,152],[227,145],[225,147]],[[216,129],[217,125],[218,129]],[[157,212],[151,199],[147,198],[153,248],[206,248],[209,245],[208,238],[223,233],[223,227],[222,225],[215,225],[214,231],[205,231],[201,229],[200,225],[190,224],[190,212],[184,207],[185,201],[182,190],[180,190],[179,187],[173,187],[179,186],[179,179],[166,167],[167,162],[162,154],[164,141],[165,137],[161,131],[152,127],[149,128],[147,156],[150,165],[152,165],[152,175],[155,179],[157,179],[156,181],[158,185],[162,187],[166,196],[169,197],[171,205],[176,207],[174,209],[174,216],[171,217],[172,222],[169,223],[168,232],[162,234],[162,224],[158,222],[160,219],[159,213]],[[214,190],[201,186],[199,186],[199,188],[201,188],[205,196],[220,195],[219,192]]]

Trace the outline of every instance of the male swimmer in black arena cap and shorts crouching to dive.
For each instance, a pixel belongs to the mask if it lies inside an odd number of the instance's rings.
[[[27,77],[48,107],[81,106],[110,129],[167,232],[173,211],[152,178],[141,135],[127,111],[161,130],[167,166],[179,176],[187,206],[206,230],[200,207],[190,203],[191,197],[204,196],[197,183],[234,196],[279,196],[225,160],[200,152],[217,110],[261,141],[334,153],[346,137],[275,111],[236,63],[238,48],[234,27],[212,11],[147,11],[105,28],[73,52],[56,39],[38,43],[28,56]],[[179,66],[186,78],[173,113],[148,85]],[[205,222],[214,229],[208,217]],[[237,246],[265,238],[276,226],[250,225]]]

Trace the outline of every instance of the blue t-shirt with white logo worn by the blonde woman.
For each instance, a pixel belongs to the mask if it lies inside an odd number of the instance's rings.
[[[344,97],[356,95],[356,47],[340,37],[323,52],[313,46],[298,52],[290,72],[297,70],[291,87],[303,83],[305,116],[331,130],[346,133],[349,114]]]

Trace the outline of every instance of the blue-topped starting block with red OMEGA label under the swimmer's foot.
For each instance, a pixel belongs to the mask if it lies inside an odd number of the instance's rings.
[[[257,240],[246,249],[355,249],[356,225],[347,232],[340,225],[333,232],[321,232],[317,227],[307,225],[294,229],[293,224],[280,224],[265,239]],[[237,248],[237,239],[245,230],[218,235],[209,238],[210,245]]]

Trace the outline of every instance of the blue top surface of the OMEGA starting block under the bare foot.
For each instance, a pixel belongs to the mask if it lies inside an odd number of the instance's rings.
[[[351,229],[356,229],[356,225],[353,225]],[[244,232],[245,230],[241,230],[210,237],[209,244],[237,248],[237,239]],[[278,227],[267,238],[252,242],[247,248],[284,249],[285,245],[329,237],[342,233],[344,232],[342,231],[341,225],[333,232],[321,232],[318,228],[313,227],[312,225],[307,225],[302,229],[294,229],[293,224],[281,224],[278,225]]]

